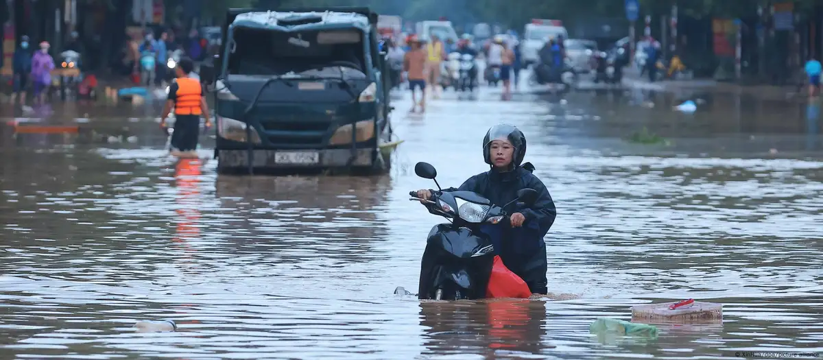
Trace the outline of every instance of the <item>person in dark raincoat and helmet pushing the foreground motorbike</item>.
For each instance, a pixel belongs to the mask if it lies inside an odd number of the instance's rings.
[[[517,192],[530,188],[537,191],[537,201],[530,206],[516,201],[504,210],[508,223],[501,222],[483,228],[495,246],[504,265],[528,284],[532,293],[548,293],[546,280],[546,242],[543,237],[555,222],[557,210],[551,194],[532,171],[531,163],[523,163],[526,155],[526,136],[514,125],[499,124],[491,127],[483,139],[483,159],[491,169],[468,178],[458,188],[444,189],[477,192],[499,206],[517,199]],[[417,197],[428,200],[435,193],[431,189],[417,191]]]

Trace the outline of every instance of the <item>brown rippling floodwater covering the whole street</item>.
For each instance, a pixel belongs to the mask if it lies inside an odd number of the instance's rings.
[[[165,157],[156,122],[128,113],[87,123],[128,128],[134,142],[2,132],[0,358],[823,353],[823,156],[805,105],[778,113],[718,96],[681,114],[682,94],[500,102],[483,91],[432,101],[425,116],[398,100],[406,142],[374,178],[217,176],[214,160]],[[574,296],[394,295],[416,289],[425,235],[442,221],[408,201],[434,185],[413,165],[456,186],[486,169],[481,138],[503,120],[526,132],[556,201],[550,291]],[[644,126],[672,142],[623,140]],[[723,323],[662,325],[658,339],[589,334],[599,316],[684,298],[723,303]],[[179,329],[134,331],[154,319]]]

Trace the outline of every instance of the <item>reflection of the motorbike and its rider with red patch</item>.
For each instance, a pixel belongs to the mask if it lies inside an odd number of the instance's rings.
[[[474,353],[485,358],[510,358],[554,348],[543,339],[543,301],[424,301],[420,307],[427,349],[424,355]]]

